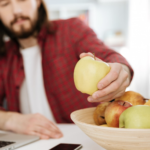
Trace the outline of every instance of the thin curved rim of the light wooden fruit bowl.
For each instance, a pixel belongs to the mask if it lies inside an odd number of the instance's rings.
[[[75,115],[75,113],[77,113],[77,112],[79,112],[79,111],[83,111],[83,110],[86,110],[86,109],[92,109],[92,108],[96,108],[96,107],[89,107],[89,108],[83,108],[83,109],[79,109],[79,110],[75,110],[75,111],[73,111],[71,114],[70,114],[70,117],[71,117],[71,119],[72,119],[72,121],[76,124],[76,123],[78,123],[78,124],[84,124],[85,126],[88,126],[88,127],[94,127],[94,128],[101,128],[101,129],[105,129],[105,130],[113,130],[113,131],[125,131],[125,132],[127,132],[127,131],[134,131],[134,132],[147,132],[147,131],[149,131],[150,132],[150,129],[129,129],[129,128],[115,128],[115,127],[104,127],[104,126],[98,126],[98,125],[92,125],[92,124],[88,124],[88,123],[84,123],[84,122],[82,122],[82,121],[78,121],[78,120],[76,120],[76,119],[73,119],[74,118],[74,115]],[[75,121],[74,121],[75,120]]]

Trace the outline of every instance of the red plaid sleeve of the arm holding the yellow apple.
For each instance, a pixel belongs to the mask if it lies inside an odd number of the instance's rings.
[[[131,79],[133,78],[134,72],[127,60],[116,51],[108,48],[97,38],[91,28],[78,18],[71,19],[70,24],[71,40],[78,56],[83,52],[91,52],[105,62],[124,64],[130,69]]]

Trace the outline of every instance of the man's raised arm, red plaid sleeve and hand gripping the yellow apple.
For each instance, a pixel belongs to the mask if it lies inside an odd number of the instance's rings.
[[[108,75],[98,83],[98,91],[88,97],[88,100],[110,101],[123,95],[133,78],[133,70],[126,59],[104,45],[93,30],[78,19],[72,20],[71,34],[72,43],[80,58],[87,55],[93,57],[94,53],[97,60],[107,62],[111,67]]]

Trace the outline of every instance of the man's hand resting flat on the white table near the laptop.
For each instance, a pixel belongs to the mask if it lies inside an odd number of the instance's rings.
[[[63,134],[59,128],[40,114],[23,115],[19,113],[7,113],[8,121],[4,130],[15,133],[37,135],[41,139],[61,138]]]

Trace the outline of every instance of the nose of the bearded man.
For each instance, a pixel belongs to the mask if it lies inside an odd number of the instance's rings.
[[[22,9],[16,0],[12,2],[12,12],[15,16],[20,16],[22,13]]]

